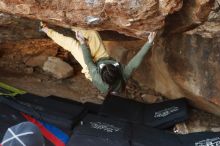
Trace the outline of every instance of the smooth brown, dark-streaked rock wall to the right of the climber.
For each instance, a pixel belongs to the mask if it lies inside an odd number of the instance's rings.
[[[176,29],[177,33],[167,27],[171,31],[166,30],[169,33],[157,41],[139,68],[142,75],[135,74],[139,82],[170,98],[187,97],[196,107],[220,115],[219,4],[215,1],[207,21],[194,29]]]

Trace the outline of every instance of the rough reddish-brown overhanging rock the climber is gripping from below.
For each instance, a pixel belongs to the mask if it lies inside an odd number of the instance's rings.
[[[136,37],[164,27],[182,0],[1,0],[0,11],[57,25],[114,30]]]

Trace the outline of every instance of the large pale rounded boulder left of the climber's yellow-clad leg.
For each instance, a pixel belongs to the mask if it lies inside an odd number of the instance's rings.
[[[43,70],[57,79],[68,78],[73,75],[73,67],[57,57],[48,57]]]

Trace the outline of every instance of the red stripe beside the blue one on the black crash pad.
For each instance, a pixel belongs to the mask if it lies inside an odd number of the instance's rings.
[[[28,121],[35,124],[41,131],[44,137],[48,139],[50,142],[54,144],[54,146],[65,146],[65,144],[59,140],[56,136],[54,136],[50,131],[48,131],[40,122],[38,122],[36,119],[30,117],[29,115],[26,115],[24,113],[21,113]],[[1,145],[0,145],[1,146]]]

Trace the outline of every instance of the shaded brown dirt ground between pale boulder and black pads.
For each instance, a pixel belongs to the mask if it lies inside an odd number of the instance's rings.
[[[74,77],[57,80],[47,74],[15,73],[1,68],[0,81],[40,96],[56,95],[80,102],[102,102],[97,89],[80,72]]]

